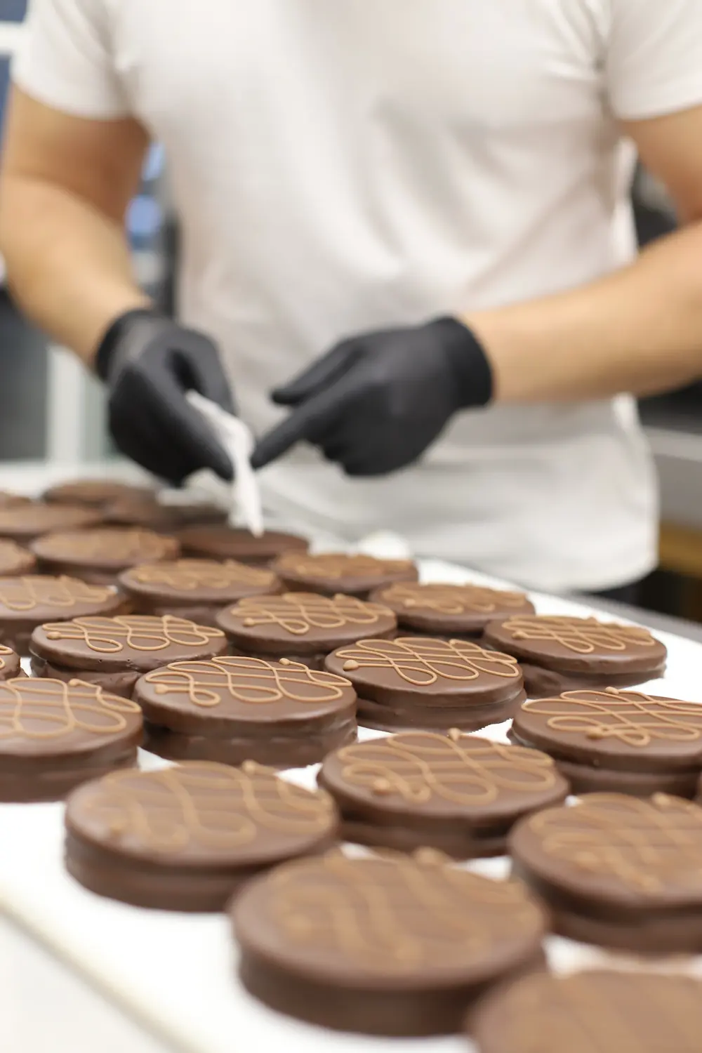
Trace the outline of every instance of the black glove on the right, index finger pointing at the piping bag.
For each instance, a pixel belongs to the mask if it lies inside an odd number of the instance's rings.
[[[455,318],[353,337],[273,392],[294,409],[252,463],[263,468],[306,440],[347,475],[385,475],[421,457],[458,410],[484,405],[492,390],[480,343]]]

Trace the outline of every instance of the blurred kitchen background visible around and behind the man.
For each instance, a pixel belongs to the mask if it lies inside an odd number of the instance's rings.
[[[0,0],[0,116],[26,0]],[[675,227],[664,191],[639,170],[631,195],[643,245]],[[174,309],[178,230],[163,156],[152,148],[127,226],[142,285]],[[111,459],[99,385],[17,313],[0,261],[0,461],[82,463]],[[660,568],[641,585],[641,605],[702,621],[702,384],[641,403],[661,485]]]

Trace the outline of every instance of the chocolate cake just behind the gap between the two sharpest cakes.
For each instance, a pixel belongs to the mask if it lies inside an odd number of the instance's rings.
[[[393,636],[395,615],[356,596],[284,593],[242,599],[217,616],[235,653],[293,658],[322,669],[335,648],[365,636]],[[343,675],[343,674],[342,674]]]

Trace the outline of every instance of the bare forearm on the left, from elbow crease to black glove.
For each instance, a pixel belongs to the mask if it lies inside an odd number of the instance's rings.
[[[27,317],[85,362],[114,318],[148,303],[134,280],[122,227],[49,183],[4,178],[0,253]]]

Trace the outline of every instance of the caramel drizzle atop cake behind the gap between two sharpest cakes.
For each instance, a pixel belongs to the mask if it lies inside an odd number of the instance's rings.
[[[318,596],[316,593],[284,593],[282,596],[248,597],[229,614],[243,625],[278,625],[292,636],[304,636],[310,629],[341,629],[343,625],[374,625],[388,608],[367,603],[355,596]]]

